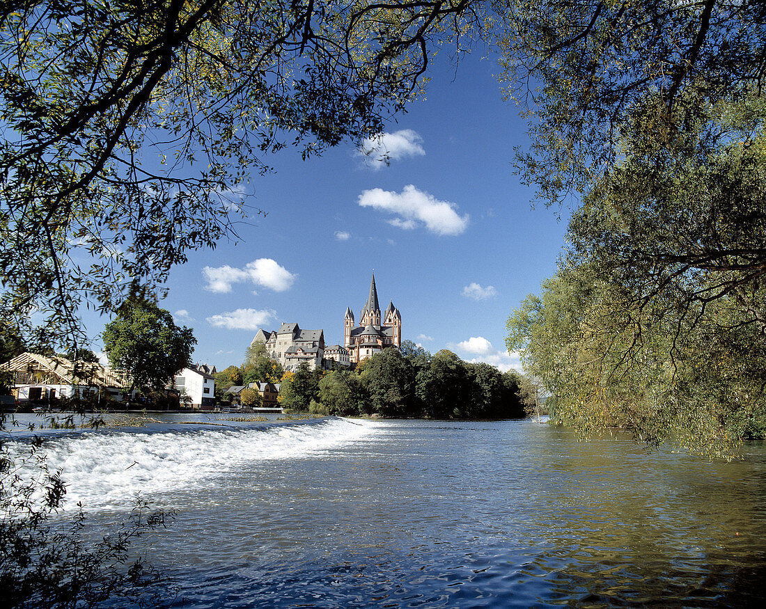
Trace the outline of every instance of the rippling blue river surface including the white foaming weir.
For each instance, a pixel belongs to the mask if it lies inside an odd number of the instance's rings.
[[[710,463],[535,421],[180,418],[44,444],[91,526],[124,520],[136,495],[176,510],[135,549],[175,578],[178,606],[744,607],[764,596],[760,446]]]

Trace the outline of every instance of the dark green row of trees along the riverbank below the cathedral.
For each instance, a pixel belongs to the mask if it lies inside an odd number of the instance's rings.
[[[524,417],[519,377],[489,364],[463,362],[453,352],[430,355],[411,341],[401,352],[385,349],[354,371],[287,373],[283,408],[313,414],[429,417],[440,419]]]

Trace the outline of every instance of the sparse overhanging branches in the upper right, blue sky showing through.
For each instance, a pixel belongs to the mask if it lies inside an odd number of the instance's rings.
[[[719,104],[761,95],[766,9],[757,0],[542,0],[514,2],[507,15],[495,30],[501,80],[534,115],[519,172],[548,203],[588,192],[620,162],[630,133],[661,153],[690,122],[715,120]],[[686,153],[722,139],[709,129]]]

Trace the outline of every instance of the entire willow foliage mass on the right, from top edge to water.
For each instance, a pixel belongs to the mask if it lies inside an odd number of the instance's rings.
[[[763,434],[766,8],[535,8],[500,36],[509,94],[535,104],[517,166],[572,220],[508,344],[562,421],[727,452]]]

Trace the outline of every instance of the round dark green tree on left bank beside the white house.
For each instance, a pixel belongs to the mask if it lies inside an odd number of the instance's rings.
[[[179,328],[165,309],[147,300],[128,300],[103,331],[103,345],[113,368],[129,373],[129,391],[159,390],[189,365],[197,339]]]

